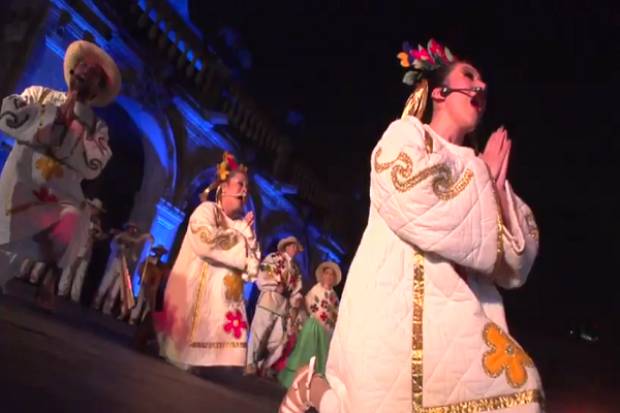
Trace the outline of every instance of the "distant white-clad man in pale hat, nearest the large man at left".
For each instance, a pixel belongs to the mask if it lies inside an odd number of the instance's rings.
[[[100,199],[94,198],[86,200],[85,213],[89,214],[90,222],[88,222],[88,226],[78,228],[78,231],[87,231],[88,236],[86,237],[86,242],[80,245],[78,256],[73,262],[73,265],[65,267],[62,271],[62,276],[58,283],[59,296],[66,298],[71,294],[71,300],[73,302],[80,302],[86,270],[88,269],[88,264],[90,263],[93,252],[93,244],[95,241],[102,241],[108,238],[108,234],[101,228],[100,214],[104,212],[105,209]],[[78,238],[82,237],[76,237],[76,239]]]

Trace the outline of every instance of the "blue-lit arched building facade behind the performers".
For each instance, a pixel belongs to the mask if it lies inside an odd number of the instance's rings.
[[[65,90],[62,61],[66,47],[76,39],[80,39],[86,32],[94,35],[95,41],[108,51],[119,64],[121,70],[131,69],[140,76],[144,73],[145,63],[123,40],[122,28],[115,27],[104,13],[99,10],[92,0],[82,0],[91,11],[97,14],[112,28],[111,39],[104,39],[97,30],[90,26],[72,7],[67,0],[51,0],[50,12],[41,32],[41,39],[29,57],[27,67],[15,89],[20,92],[30,85],[44,85],[54,89]],[[187,19],[187,2],[170,2],[179,14]],[[59,18],[63,11],[67,11],[72,19],[59,29]],[[197,61],[196,64],[202,64]],[[134,81],[135,82],[135,81]],[[146,89],[162,88],[163,85],[149,84],[148,80],[139,79],[146,84]],[[144,184],[137,193],[131,220],[137,222],[143,229],[150,228],[155,237],[154,244],[162,244],[172,250],[179,238],[179,233],[186,214],[189,198],[195,196],[196,188],[192,185],[206,186],[210,182],[212,167],[221,152],[226,150],[235,154],[243,153],[240,143],[224,136],[215,128],[214,118],[207,118],[180,89],[167,90],[170,96],[170,105],[182,117],[182,125],[172,124],[168,115],[153,109],[154,102],[140,93],[133,93],[133,84],[125,83],[118,105],[129,115],[142,133],[142,147],[145,154]],[[140,100],[142,99],[142,100]],[[210,114],[209,116],[213,116]],[[181,133],[182,132],[182,133]],[[185,140],[180,142],[180,140]],[[9,146],[0,146],[0,165],[10,150]],[[205,156],[208,155],[208,156]],[[243,161],[243,159],[240,159]],[[328,234],[320,228],[304,221],[299,207],[291,202],[287,196],[294,195],[295,188],[282,185],[260,171],[251,171],[252,200],[248,208],[255,211],[257,222],[257,236],[263,250],[263,255],[275,250],[278,240],[295,235],[304,244],[306,250],[300,254],[297,261],[304,273],[306,288],[314,283],[314,267],[320,261],[330,259],[341,263],[344,251]],[[199,181],[199,182],[198,182]],[[202,189],[202,188],[201,188]],[[178,194],[185,194],[179,197]],[[114,205],[107,205],[108,209]],[[150,247],[147,245],[142,252],[142,261],[148,255]],[[174,257],[164,257],[164,260],[173,260]],[[139,290],[139,274],[134,274],[136,293]],[[247,286],[249,295],[251,285]],[[247,296],[246,295],[246,296]]]

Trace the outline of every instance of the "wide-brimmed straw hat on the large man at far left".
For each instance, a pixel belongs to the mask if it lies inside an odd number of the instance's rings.
[[[63,64],[67,86],[71,79],[71,70],[84,59],[97,62],[106,75],[105,87],[90,101],[90,104],[98,107],[109,105],[121,91],[121,73],[112,57],[93,43],[77,40],[67,48]]]

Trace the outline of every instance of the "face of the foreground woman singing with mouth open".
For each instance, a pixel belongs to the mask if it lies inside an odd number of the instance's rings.
[[[482,118],[486,106],[486,83],[482,81],[480,72],[469,63],[457,63],[446,77],[444,85],[450,89],[482,88],[481,92],[454,91],[445,97],[442,104],[443,110],[448,111],[450,118],[460,129],[472,132]]]

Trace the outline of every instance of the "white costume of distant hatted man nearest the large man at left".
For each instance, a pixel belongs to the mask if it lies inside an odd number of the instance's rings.
[[[97,240],[105,239],[106,235],[101,229],[101,223],[98,218],[92,217],[86,243],[80,246],[78,256],[73,265],[65,267],[58,283],[58,295],[67,296],[71,294],[71,300],[78,303],[82,295],[82,287],[84,286],[84,278],[86,270],[90,263],[93,253],[93,244]]]

